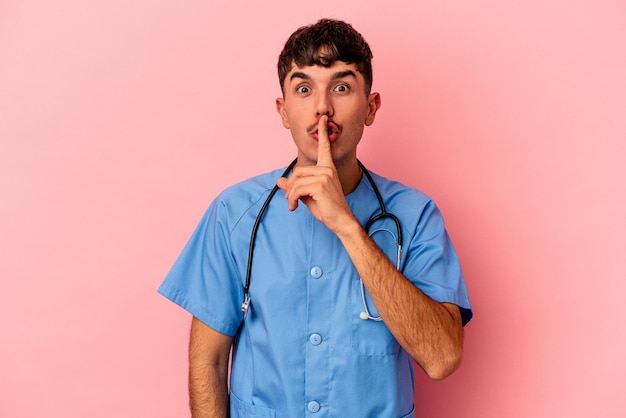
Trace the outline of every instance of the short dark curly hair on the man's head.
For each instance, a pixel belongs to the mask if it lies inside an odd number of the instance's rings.
[[[295,63],[298,67],[330,67],[335,61],[355,64],[365,80],[365,94],[372,88],[372,51],[350,24],[340,20],[321,19],[296,30],[278,57],[278,79],[284,93],[285,77]]]

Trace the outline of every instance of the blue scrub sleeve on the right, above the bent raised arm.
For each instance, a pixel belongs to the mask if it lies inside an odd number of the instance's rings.
[[[404,275],[431,299],[459,306],[463,325],[469,322],[472,308],[461,265],[441,212],[432,200],[419,214],[412,239],[406,245]]]

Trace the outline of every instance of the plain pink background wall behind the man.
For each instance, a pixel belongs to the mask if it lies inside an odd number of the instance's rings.
[[[0,3],[1,417],[187,415],[156,288],[218,191],[295,155],[276,57],[323,16],[374,50],[360,158],[436,199],[475,309],[421,416],[626,416],[625,3],[336,3]]]

